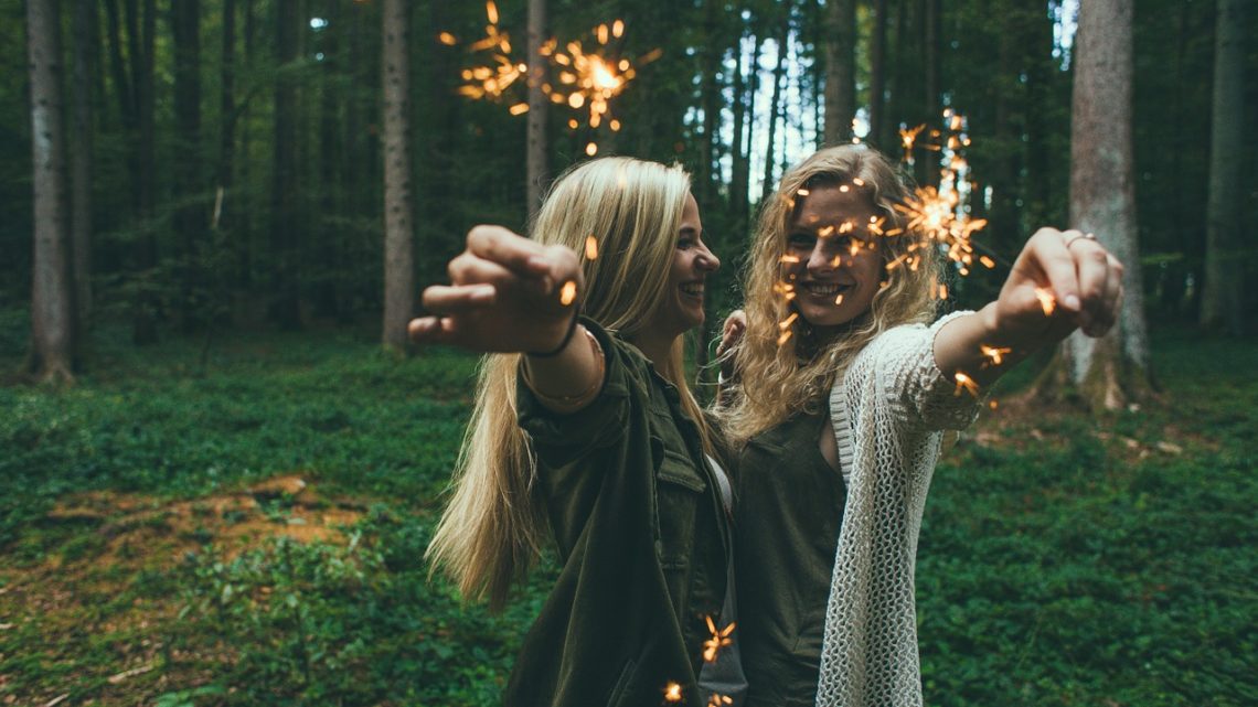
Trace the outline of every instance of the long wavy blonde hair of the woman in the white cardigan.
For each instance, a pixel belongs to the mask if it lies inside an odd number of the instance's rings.
[[[884,219],[881,228],[888,235],[874,240],[884,268],[897,259],[897,264],[902,263],[906,254],[913,255],[913,267],[886,269],[886,287],[874,294],[869,311],[843,333],[820,337],[803,317],[796,317],[793,336],[779,343],[779,322],[798,311],[780,291],[786,234],[806,199],[799,191],[829,185],[849,185],[868,195],[874,213]],[[903,230],[906,219],[896,205],[903,204],[906,196],[887,159],[864,146],[820,150],[782,175],[777,192],[761,209],[745,265],[746,333],[726,353],[737,364],[738,384],[730,396],[732,404],[716,414],[732,443],[742,444],[800,409],[821,411],[835,377],[869,341],[894,326],[927,322],[935,316],[940,258],[935,248],[925,247],[920,234]]]

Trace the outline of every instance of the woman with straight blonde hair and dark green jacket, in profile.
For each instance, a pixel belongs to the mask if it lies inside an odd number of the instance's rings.
[[[453,497],[428,555],[501,606],[543,546],[559,580],[525,639],[508,706],[706,704],[738,696],[728,482],[686,385],[683,336],[707,276],[689,177],[629,159],[561,177],[525,239],[477,226],[429,287],[420,342],[486,356]],[[580,315],[580,316],[579,316]],[[727,496],[727,494],[726,494]]]

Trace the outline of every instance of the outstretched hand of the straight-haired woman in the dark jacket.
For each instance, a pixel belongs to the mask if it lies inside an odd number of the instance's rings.
[[[450,260],[450,284],[424,289],[431,316],[410,322],[416,343],[482,352],[546,352],[560,346],[585,291],[580,260],[501,226],[468,231]]]

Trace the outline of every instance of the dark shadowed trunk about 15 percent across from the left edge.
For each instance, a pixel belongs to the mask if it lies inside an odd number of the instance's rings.
[[[187,331],[204,323],[205,282],[199,252],[205,235],[201,184],[201,6],[200,0],[171,0],[170,24],[175,48],[175,233],[181,273],[180,320]]]

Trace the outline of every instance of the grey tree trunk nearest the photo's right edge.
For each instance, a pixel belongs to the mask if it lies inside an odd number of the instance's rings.
[[[1242,167],[1235,153],[1245,133],[1245,3],[1219,0],[1214,35],[1214,99],[1210,112],[1210,196],[1205,221],[1201,326],[1244,333],[1240,243]]]

